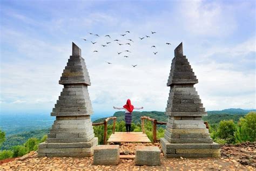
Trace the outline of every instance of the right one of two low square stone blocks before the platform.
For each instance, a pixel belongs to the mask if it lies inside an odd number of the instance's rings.
[[[152,146],[136,146],[136,165],[160,165],[160,149]]]

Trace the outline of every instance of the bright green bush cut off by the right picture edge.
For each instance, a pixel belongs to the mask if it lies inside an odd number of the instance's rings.
[[[256,140],[256,112],[250,112],[244,118],[240,118],[235,138],[237,142]]]

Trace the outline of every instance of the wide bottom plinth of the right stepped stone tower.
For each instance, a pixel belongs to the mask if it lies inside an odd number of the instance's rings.
[[[170,143],[160,138],[161,147],[166,158],[220,158],[218,143]]]

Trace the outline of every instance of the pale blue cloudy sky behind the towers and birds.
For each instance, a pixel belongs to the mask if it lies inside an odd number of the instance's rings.
[[[82,49],[96,114],[111,115],[112,106],[127,98],[145,111],[165,111],[173,50],[180,42],[206,110],[256,108],[255,1],[1,1],[0,6],[1,113],[51,112],[72,42]],[[131,33],[121,37],[126,30]],[[145,35],[151,37],[139,40]],[[113,42],[125,44],[127,38],[132,46]],[[107,41],[112,43],[100,46]],[[124,50],[132,52],[129,58],[118,56]]]

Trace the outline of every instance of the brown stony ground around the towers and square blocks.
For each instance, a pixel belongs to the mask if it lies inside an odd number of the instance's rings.
[[[120,152],[134,154],[137,145],[123,143]],[[146,143],[145,146],[160,146]],[[224,145],[221,158],[165,159],[161,154],[161,166],[136,166],[134,160],[122,159],[117,166],[93,165],[91,158],[37,158],[36,152],[0,163],[0,170],[256,170],[255,143]]]

